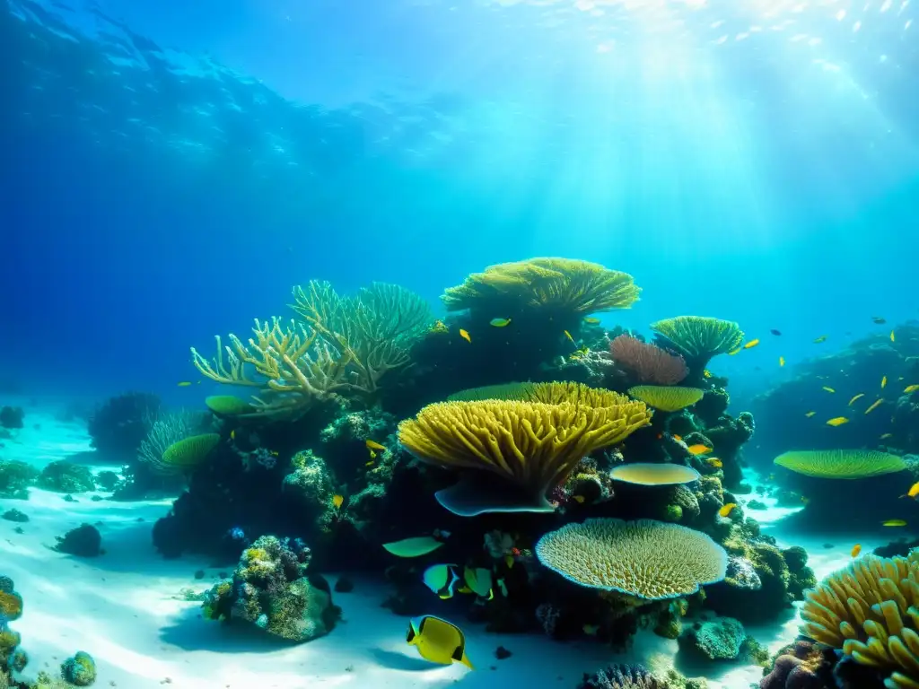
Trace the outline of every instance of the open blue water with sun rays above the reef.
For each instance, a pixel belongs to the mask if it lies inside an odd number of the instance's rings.
[[[763,343],[717,371],[752,394],[818,334],[833,351],[919,315],[913,18],[6,0],[0,378],[197,401],[176,389],[188,347],[285,312],[294,284],[437,303],[485,265],[563,255],[643,288],[609,325],[741,322]]]

